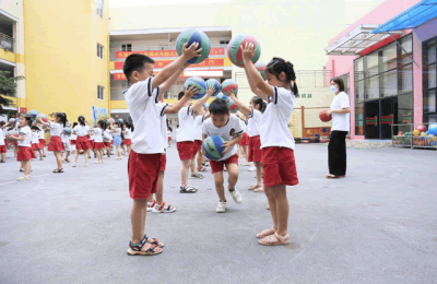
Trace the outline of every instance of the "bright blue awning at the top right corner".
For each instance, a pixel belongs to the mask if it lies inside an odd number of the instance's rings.
[[[417,27],[437,17],[437,0],[423,0],[370,32],[381,34]]]

